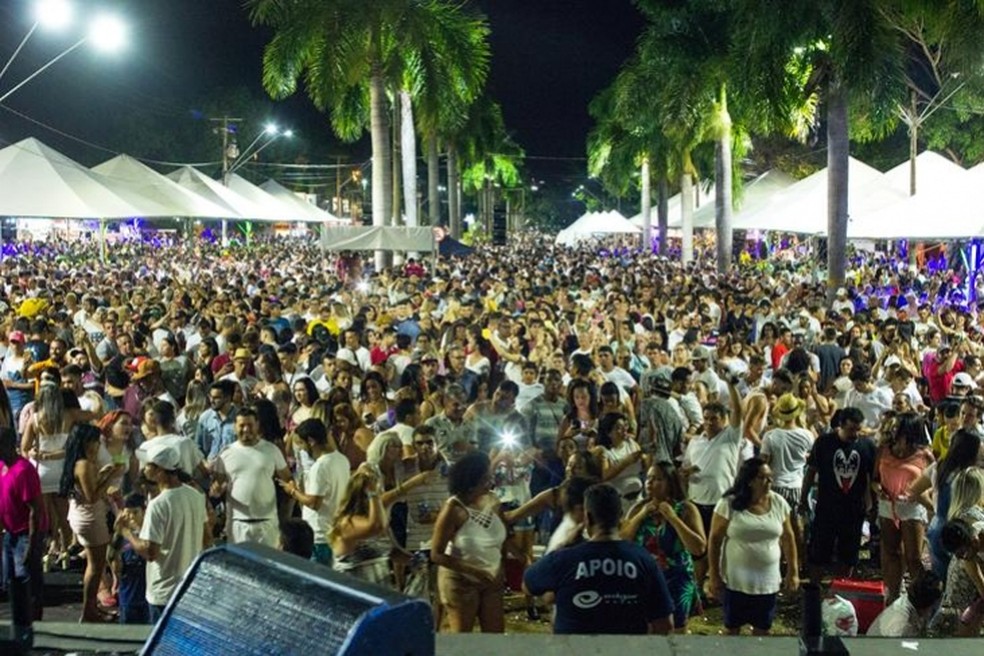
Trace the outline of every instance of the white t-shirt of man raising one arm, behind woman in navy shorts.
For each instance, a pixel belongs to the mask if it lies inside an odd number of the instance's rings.
[[[713,506],[724,496],[738,474],[744,442],[741,429],[730,425],[713,439],[700,435],[690,440],[683,464],[699,469],[690,476],[691,501]]]

